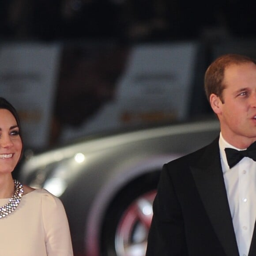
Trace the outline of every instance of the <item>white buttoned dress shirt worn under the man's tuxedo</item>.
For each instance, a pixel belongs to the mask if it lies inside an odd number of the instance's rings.
[[[220,157],[230,212],[240,256],[248,256],[256,220],[256,162],[244,157],[231,169],[226,160],[225,148],[233,147],[219,137]]]

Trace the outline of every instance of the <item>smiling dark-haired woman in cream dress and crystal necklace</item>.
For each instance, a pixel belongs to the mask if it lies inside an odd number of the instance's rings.
[[[19,116],[0,97],[0,254],[72,256],[68,220],[60,199],[45,189],[13,180],[22,149]]]

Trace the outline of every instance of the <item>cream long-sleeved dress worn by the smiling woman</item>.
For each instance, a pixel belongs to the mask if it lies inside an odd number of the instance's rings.
[[[0,206],[8,199],[0,199]],[[0,219],[0,256],[73,256],[67,216],[60,199],[45,189],[22,197]]]

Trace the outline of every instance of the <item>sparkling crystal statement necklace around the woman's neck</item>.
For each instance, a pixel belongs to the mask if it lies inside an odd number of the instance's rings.
[[[0,207],[0,219],[11,214],[18,207],[23,196],[23,185],[19,181],[14,180],[14,192],[9,202]]]

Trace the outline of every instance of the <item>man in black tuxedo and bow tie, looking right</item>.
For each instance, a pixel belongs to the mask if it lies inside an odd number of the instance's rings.
[[[204,83],[220,135],[163,166],[146,256],[256,256],[256,61],[220,56]]]

